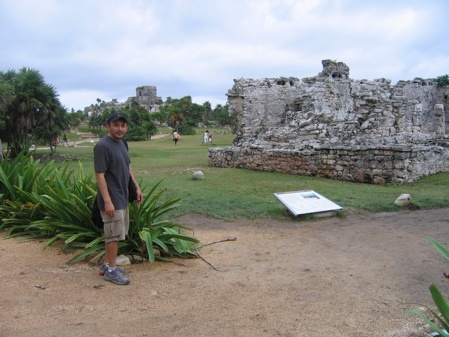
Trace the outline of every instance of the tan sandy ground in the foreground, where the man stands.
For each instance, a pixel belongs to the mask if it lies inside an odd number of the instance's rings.
[[[314,222],[199,215],[204,260],[127,266],[117,286],[42,243],[0,241],[0,336],[425,336],[406,302],[445,294],[449,209]],[[2,234],[2,238],[4,234]],[[216,268],[216,269],[214,269]]]

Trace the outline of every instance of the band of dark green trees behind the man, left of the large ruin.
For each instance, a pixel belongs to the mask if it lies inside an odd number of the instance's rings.
[[[68,112],[54,86],[46,83],[38,70],[23,67],[0,72],[0,141],[6,144],[12,157],[27,151],[32,144],[48,145],[53,153],[66,130],[81,123],[101,130],[113,112],[129,117],[131,128],[127,138],[132,141],[150,139],[161,125],[184,135],[194,134],[195,127],[200,125],[235,127],[227,104],[212,109],[209,102],[196,104],[190,96],[167,97],[156,112],[149,112],[137,102],[116,110],[100,99],[90,108],[90,112],[73,109]]]

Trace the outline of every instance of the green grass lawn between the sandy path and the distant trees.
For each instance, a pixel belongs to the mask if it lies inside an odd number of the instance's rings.
[[[314,190],[344,210],[372,212],[398,211],[394,205],[402,193],[409,193],[420,208],[449,207],[449,172],[425,177],[406,185],[367,185],[317,177],[304,177],[245,169],[229,169],[208,166],[208,148],[201,143],[204,130],[194,136],[182,136],[178,145],[172,137],[145,142],[130,142],[132,166],[143,187],[162,180],[170,197],[182,199],[175,216],[185,213],[201,213],[232,220],[245,218],[286,218],[286,208],[275,197],[276,192]],[[218,132],[219,130],[215,130]],[[224,130],[220,130],[225,132]],[[213,146],[232,144],[234,135],[214,133]],[[94,143],[78,147],[58,147],[57,154],[72,155],[71,167],[93,176]],[[38,153],[45,152],[38,150]],[[47,150],[48,152],[48,150]],[[194,171],[201,170],[204,180],[192,180]]]

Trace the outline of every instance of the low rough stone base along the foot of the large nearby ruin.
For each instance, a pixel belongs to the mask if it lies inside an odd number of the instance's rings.
[[[403,184],[449,170],[449,144],[321,147],[309,150],[209,149],[209,165],[246,168],[360,183]]]

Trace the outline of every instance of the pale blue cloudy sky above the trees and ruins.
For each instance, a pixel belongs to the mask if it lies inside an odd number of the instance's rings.
[[[449,74],[448,0],[1,0],[0,71],[39,70],[68,109],[162,99],[226,103],[237,78]]]

